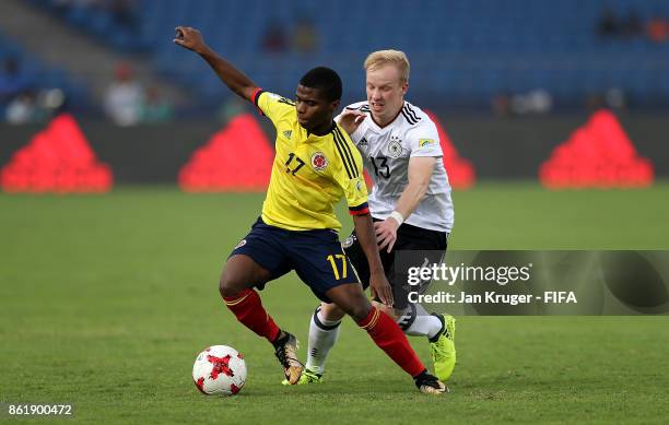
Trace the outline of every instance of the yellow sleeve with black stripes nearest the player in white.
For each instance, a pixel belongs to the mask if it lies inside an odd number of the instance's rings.
[[[345,132],[338,128],[333,132],[338,164],[332,167],[332,178],[343,189],[349,213],[365,215],[369,213],[367,205],[367,186],[363,177],[362,156]]]

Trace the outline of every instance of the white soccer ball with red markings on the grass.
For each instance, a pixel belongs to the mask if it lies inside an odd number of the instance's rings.
[[[204,394],[236,394],[246,382],[244,356],[227,345],[209,346],[192,365],[192,380]]]

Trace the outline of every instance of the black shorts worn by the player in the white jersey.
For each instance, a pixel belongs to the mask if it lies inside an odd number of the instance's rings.
[[[374,220],[378,222],[379,220]],[[344,252],[353,263],[357,276],[366,290],[369,286],[369,263],[363,251],[355,231],[342,244]],[[422,227],[402,224],[397,229],[397,240],[390,252],[387,248],[380,250],[380,259],[384,264],[386,278],[392,287],[394,307],[404,309],[409,305],[409,292],[423,293],[430,282],[421,283],[421,287],[409,285],[408,267],[421,267],[425,261],[441,263],[448,247],[448,234],[446,232],[430,231]],[[403,253],[400,251],[404,251]],[[420,255],[411,256],[406,251],[421,251]],[[402,256],[402,267],[396,267],[396,256]],[[398,270],[396,270],[398,269]],[[401,269],[401,270],[400,270]]]

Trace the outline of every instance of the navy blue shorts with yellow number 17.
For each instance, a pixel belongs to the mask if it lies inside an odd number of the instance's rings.
[[[330,229],[286,231],[258,219],[230,256],[238,253],[250,257],[269,271],[271,276],[268,282],[295,270],[325,303],[331,303],[326,296],[329,290],[344,283],[360,282],[341,248],[339,235]],[[262,290],[265,283],[257,287]]]

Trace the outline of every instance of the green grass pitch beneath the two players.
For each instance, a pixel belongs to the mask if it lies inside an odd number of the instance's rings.
[[[669,249],[667,184],[488,184],[454,198],[454,249]],[[667,317],[460,317],[443,398],[418,393],[347,320],[326,382],[282,387],[269,344],[216,291],[261,202],[173,188],[0,194],[0,401],[74,403],[86,423],[669,422]],[[262,298],[306,344],[308,288],[291,274]],[[411,341],[429,364],[427,344]],[[246,356],[238,397],[191,382],[197,352],[219,343]]]

